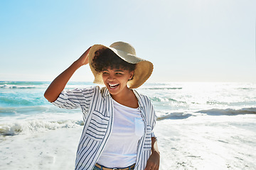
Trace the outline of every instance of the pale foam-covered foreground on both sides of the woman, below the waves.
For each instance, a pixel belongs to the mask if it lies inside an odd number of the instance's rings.
[[[256,132],[246,127],[255,120],[206,115],[157,121],[160,169],[256,169]],[[81,131],[82,126],[1,137],[0,169],[74,169]]]

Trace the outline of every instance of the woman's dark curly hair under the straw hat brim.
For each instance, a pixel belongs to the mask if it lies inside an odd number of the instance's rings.
[[[136,64],[125,62],[118,57],[112,50],[100,49],[95,52],[95,57],[92,59],[92,67],[96,72],[102,72],[105,69],[125,69],[130,72],[134,71]]]

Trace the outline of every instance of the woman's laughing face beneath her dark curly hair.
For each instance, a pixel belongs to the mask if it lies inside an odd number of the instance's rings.
[[[102,71],[102,79],[113,96],[129,90],[127,81],[133,77],[133,74],[134,71],[130,72],[126,69],[104,69]]]

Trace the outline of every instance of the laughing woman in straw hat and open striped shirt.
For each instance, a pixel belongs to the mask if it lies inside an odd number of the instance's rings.
[[[73,73],[90,64],[100,89],[64,90]],[[154,108],[134,89],[153,70],[151,62],[136,57],[134,47],[114,42],[93,45],[56,77],[45,97],[60,108],[82,109],[85,122],[78,145],[75,169],[159,169],[160,154],[152,132]]]

